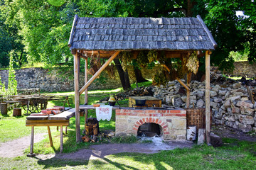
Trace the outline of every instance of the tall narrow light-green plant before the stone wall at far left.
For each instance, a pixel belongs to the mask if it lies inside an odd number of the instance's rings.
[[[8,89],[6,91],[6,95],[16,95],[17,93],[17,81],[15,77],[15,70],[13,67],[13,55],[14,50],[10,52],[10,64],[9,64],[9,78],[8,78]]]

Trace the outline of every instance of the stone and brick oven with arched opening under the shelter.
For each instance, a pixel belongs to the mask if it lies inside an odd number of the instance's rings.
[[[164,140],[186,140],[186,111],[182,108],[116,110],[116,135],[138,135],[138,130],[148,124],[159,125],[159,136]]]

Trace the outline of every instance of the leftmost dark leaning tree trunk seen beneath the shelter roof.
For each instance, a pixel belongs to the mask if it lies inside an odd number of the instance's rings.
[[[124,69],[122,69],[122,66],[121,66],[121,63],[120,63],[119,59],[115,58],[114,59],[114,64],[117,67],[117,72],[118,72],[119,77],[120,77],[122,88],[124,90],[130,89],[131,84],[129,84],[128,72],[124,72]]]

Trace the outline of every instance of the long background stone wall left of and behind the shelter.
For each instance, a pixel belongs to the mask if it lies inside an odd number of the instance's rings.
[[[142,74],[146,79],[152,79],[155,69],[142,69]],[[18,82],[18,89],[34,89],[38,88],[41,91],[73,91],[74,81],[68,79],[68,77],[60,77],[57,72],[50,73],[48,69],[42,68],[26,68],[16,69],[16,80]],[[107,72],[102,72],[103,79],[105,82],[94,81],[90,86],[89,90],[95,89],[115,89],[122,87],[121,81],[117,70],[114,69],[115,77],[110,79]],[[136,81],[132,67],[128,68],[130,83]],[[9,70],[0,70],[1,81],[8,84]],[[84,85],[84,72],[80,73],[80,88]],[[88,76],[90,79],[90,75]]]

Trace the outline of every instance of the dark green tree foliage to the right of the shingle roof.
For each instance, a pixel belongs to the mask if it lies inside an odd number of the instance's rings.
[[[232,70],[234,60],[229,53],[242,52],[246,48],[250,49],[248,60],[255,60],[255,1],[197,0],[193,10],[201,15],[218,44],[211,55],[211,63],[220,70]],[[238,17],[237,11],[243,11],[247,16]]]

